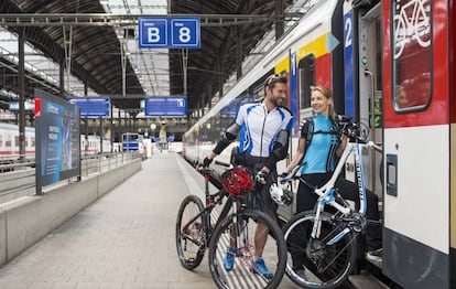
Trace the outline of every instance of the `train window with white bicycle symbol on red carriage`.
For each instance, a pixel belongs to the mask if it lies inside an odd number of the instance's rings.
[[[423,110],[432,96],[432,1],[395,0],[391,31],[397,111]]]

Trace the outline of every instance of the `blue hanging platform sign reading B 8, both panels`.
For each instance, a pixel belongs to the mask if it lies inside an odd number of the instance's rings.
[[[139,19],[140,49],[200,49],[199,18]]]

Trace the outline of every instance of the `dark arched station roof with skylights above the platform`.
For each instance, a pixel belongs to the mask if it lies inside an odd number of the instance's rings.
[[[315,1],[2,0],[0,26],[14,34],[23,31],[29,45],[70,67],[72,78],[87,83],[87,87],[79,88],[84,94],[115,96],[116,107],[134,114],[144,96],[184,95],[186,90],[192,111],[210,101],[236,74],[237,60],[242,62],[268,31],[298,18],[301,10],[285,12],[296,2],[303,8]],[[138,18],[151,15],[199,17],[202,47],[139,50]],[[18,54],[0,52],[0,88],[19,94]],[[56,79],[65,75],[58,71],[54,74]],[[33,96],[34,87],[59,92],[58,82],[50,82],[47,74],[28,66],[25,87],[28,97]],[[9,99],[8,94],[0,94],[0,108]]]

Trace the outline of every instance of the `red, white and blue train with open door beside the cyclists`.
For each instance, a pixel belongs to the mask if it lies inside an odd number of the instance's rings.
[[[403,288],[456,288],[455,10],[449,0],[318,1],[189,128],[184,158],[200,162],[237,108],[262,97],[265,77],[283,74],[295,126],[281,172],[312,114],[311,86],[325,85],[336,113],[382,147],[362,152],[383,214],[381,275]],[[230,152],[217,159],[229,162]],[[213,165],[217,179],[225,169]]]

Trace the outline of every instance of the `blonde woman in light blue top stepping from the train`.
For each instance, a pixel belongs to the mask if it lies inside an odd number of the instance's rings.
[[[341,135],[336,124],[333,95],[325,86],[311,88],[312,119],[306,119],[301,129],[297,151],[285,171],[290,173],[293,168],[301,163],[301,178],[296,196],[296,214],[313,210],[318,195],[313,193],[313,186],[322,186],[332,176],[337,158],[341,156],[347,137]],[[358,186],[339,178],[335,186],[339,194],[347,200],[359,203]],[[378,197],[370,191],[366,191],[368,220],[380,220],[378,211]],[[369,225],[367,228],[367,249],[377,250],[381,247],[381,226]],[[304,256],[293,253],[293,266],[295,271],[304,272]]]

